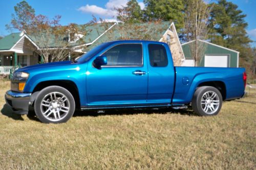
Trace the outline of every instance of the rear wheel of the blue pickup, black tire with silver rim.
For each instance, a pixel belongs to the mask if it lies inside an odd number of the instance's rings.
[[[211,99],[210,96],[207,98],[207,96],[211,94],[212,95],[216,94],[216,97],[214,98],[216,100]],[[214,103],[214,101],[217,101],[218,99],[219,99],[219,105],[218,105],[218,102]],[[199,87],[195,91],[192,99],[192,108],[199,116],[217,115],[220,112],[221,107],[222,107],[222,95],[217,88],[211,87],[211,86],[203,86],[203,87]],[[205,111],[204,109],[205,110],[207,109],[207,110]]]

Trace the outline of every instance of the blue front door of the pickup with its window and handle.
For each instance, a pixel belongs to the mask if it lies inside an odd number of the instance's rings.
[[[88,63],[87,100],[89,106],[145,104],[147,98],[147,66],[141,43],[112,46],[101,56],[108,64],[100,69]]]

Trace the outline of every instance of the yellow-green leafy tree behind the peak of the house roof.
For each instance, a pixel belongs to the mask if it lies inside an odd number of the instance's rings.
[[[172,20],[176,28],[183,28],[184,5],[182,0],[144,0],[145,20]]]

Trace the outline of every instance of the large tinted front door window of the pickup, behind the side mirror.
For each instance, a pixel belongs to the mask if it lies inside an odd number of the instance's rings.
[[[120,44],[106,51],[108,64],[106,66],[142,66],[141,44]]]

